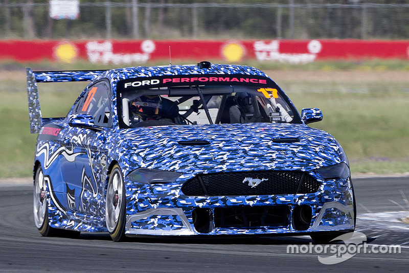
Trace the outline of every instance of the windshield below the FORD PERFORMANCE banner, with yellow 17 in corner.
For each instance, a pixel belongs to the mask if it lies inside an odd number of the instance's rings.
[[[189,85],[122,89],[123,128],[235,123],[301,123],[277,85]]]

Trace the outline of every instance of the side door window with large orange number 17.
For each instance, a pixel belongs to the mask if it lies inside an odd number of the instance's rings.
[[[102,80],[89,86],[74,107],[73,113],[92,115],[95,125],[110,127],[112,115],[109,83]]]

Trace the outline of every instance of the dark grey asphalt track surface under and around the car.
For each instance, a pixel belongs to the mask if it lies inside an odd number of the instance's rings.
[[[400,254],[356,254],[324,265],[317,254],[287,254],[287,245],[308,245],[303,237],[134,239],[115,243],[106,234],[77,239],[41,237],[32,216],[32,187],[0,185],[0,271],[138,272],[407,272],[409,177],[354,179],[357,231],[370,245],[402,246]],[[407,211],[407,213],[381,212]],[[382,218],[379,217],[381,215]],[[386,215],[386,216],[385,216]]]

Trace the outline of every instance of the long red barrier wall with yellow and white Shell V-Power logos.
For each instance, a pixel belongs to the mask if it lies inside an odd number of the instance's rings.
[[[3,40],[0,60],[143,63],[171,58],[306,63],[328,59],[409,59],[409,40]]]

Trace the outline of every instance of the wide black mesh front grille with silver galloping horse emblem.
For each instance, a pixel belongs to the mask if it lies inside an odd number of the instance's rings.
[[[264,180],[249,186],[256,179]],[[305,172],[252,171],[199,174],[186,181],[181,191],[188,196],[236,196],[314,193],[319,188],[318,181]]]

